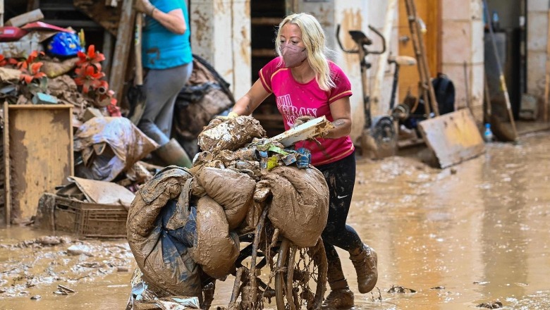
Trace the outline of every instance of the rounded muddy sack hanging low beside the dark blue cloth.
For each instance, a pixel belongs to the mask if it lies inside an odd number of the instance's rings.
[[[197,202],[197,237],[191,257],[212,278],[224,279],[239,255],[238,235],[229,232],[224,209],[208,196]]]

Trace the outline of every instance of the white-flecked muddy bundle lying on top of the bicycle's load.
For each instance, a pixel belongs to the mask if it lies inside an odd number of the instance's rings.
[[[215,153],[222,149],[236,151],[253,138],[265,137],[266,131],[252,116],[238,116],[228,120],[212,120],[200,132],[198,144],[202,151]]]

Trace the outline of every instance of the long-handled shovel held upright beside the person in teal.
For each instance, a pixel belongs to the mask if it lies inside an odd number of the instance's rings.
[[[142,13],[135,15],[135,80],[134,86],[128,89],[128,101],[130,103],[130,112],[128,118],[134,125],[138,125],[145,110],[145,89],[143,89],[143,67],[141,59],[141,39],[142,39]]]

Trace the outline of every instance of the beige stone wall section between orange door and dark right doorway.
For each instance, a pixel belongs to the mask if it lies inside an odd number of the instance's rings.
[[[456,109],[467,107],[470,101],[476,123],[480,124],[484,94],[482,1],[441,1],[441,68],[456,87]]]

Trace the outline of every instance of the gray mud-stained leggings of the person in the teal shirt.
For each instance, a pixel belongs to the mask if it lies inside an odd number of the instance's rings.
[[[175,68],[149,70],[143,81],[147,99],[138,128],[159,145],[170,141],[173,106],[192,71],[193,62]]]

